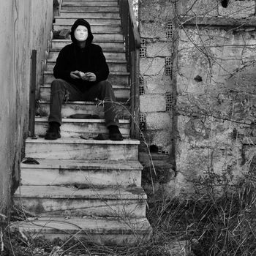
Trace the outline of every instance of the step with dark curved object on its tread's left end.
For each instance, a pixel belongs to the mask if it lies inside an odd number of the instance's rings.
[[[88,161],[37,159],[39,165],[21,163],[24,186],[137,186],[141,185],[142,165],[138,161]]]

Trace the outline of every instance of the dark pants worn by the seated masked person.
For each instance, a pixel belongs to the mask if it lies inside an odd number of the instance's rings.
[[[102,100],[105,113],[106,127],[118,126],[118,118],[115,113],[115,95],[111,83],[101,81],[91,86],[88,90],[81,92],[74,85],[62,79],[53,80],[50,85],[50,116],[49,123],[55,121],[61,124],[61,107],[64,99],[70,101],[94,101]]]

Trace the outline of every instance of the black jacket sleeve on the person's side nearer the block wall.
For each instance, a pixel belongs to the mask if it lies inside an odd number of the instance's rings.
[[[108,64],[106,63],[105,56],[102,53],[102,48],[99,45],[97,45],[97,49],[95,50],[94,61],[94,74],[96,75],[96,81],[100,82],[102,80],[106,80],[109,75],[109,69]]]

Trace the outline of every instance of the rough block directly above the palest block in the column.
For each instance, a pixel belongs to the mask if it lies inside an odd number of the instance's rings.
[[[148,94],[165,94],[172,91],[172,80],[168,75],[144,75],[143,78]]]

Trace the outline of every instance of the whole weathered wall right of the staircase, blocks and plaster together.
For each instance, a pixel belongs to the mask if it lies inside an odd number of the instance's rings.
[[[146,192],[152,180],[169,195],[207,174],[235,182],[256,161],[255,1],[148,0],[139,14],[140,127],[159,150],[153,178],[144,159]]]

